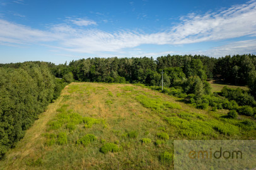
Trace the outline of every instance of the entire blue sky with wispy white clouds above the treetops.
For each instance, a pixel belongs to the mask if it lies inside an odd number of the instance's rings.
[[[0,63],[256,54],[256,0],[0,0]]]

